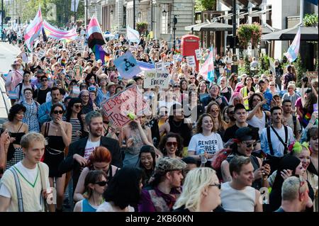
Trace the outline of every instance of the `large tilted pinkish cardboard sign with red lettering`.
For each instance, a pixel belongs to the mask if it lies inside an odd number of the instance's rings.
[[[116,96],[103,101],[101,106],[108,120],[116,127],[128,124],[132,115],[143,115],[150,111],[150,106],[136,85],[129,86]]]

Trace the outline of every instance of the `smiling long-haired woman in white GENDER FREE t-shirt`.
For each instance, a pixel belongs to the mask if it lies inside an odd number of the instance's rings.
[[[223,140],[214,130],[213,116],[204,113],[197,121],[196,135],[189,142],[189,156],[199,161],[203,154],[210,166],[213,155],[220,149],[223,149]]]

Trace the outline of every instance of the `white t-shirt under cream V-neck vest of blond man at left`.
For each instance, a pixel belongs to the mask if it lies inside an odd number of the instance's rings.
[[[23,166],[22,162],[18,162],[16,165],[16,169],[21,172],[24,178],[30,183],[34,183],[36,176],[38,174],[38,165],[35,166],[35,169],[28,169]],[[40,179],[40,174],[38,175],[38,179]],[[50,188],[49,180],[47,180],[47,188]],[[0,196],[4,196],[6,198],[11,198],[11,193],[9,189],[3,184],[0,183]]]

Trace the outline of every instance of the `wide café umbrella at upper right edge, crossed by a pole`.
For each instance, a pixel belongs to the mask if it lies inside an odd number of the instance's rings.
[[[298,26],[262,35],[262,40],[293,40]],[[318,41],[318,28],[301,26],[301,41]]]

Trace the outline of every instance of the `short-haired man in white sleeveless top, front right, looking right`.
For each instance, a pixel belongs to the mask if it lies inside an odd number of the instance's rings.
[[[251,187],[254,181],[251,159],[244,156],[234,157],[230,161],[229,171],[232,180],[222,183],[220,190],[223,208],[228,212],[262,212],[260,193]]]

